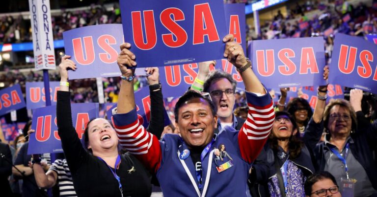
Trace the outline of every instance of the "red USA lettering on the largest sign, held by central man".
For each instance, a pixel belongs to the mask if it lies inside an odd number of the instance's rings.
[[[191,16],[191,15],[190,15]],[[215,21],[209,3],[194,5],[192,44],[219,41]],[[153,10],[134,11],[131,13],[133,38],[137,48],[150,50],[157,44],[155,13]],[[180,47],[187,43],[188,35],[177,22],[184,21],[185,14],[179,8],[170,7],[160,13],[160,22],[170,31],[162,34],[162,42],[168,47]],[[144,27],[143,27],[144,24]],[[145,38],[143,31],[145,32]]]

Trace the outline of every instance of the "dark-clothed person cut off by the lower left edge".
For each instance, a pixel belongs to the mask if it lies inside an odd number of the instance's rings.
[[[8,181],[8,177],[12,175],[12,164],[9,145],[0,142],[0,194],[4,195],[4,197],[13,195]]]

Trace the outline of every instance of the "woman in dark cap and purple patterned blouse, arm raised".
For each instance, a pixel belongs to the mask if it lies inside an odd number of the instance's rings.
[[[328,67],[323,69],[323,79],[328,78]],[[310,122],[320,123],[326,104],[327,86],[318,88],[319,100]],[[277,111],[269,142],[265,146],[269,163],[269,178],[257,186],[259,196],[305,197],[303,188],[306,177],[315,172],[311,153],[300,138],[296,137],[297,126],[293,116],[286,111]],[[249,178],[250,179],[250,178]]]

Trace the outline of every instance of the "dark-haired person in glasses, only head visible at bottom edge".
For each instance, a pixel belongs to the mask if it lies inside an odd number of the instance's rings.
[[[342,197],[335,177],[326,171],[310,175],[304,188],[306,197]]]

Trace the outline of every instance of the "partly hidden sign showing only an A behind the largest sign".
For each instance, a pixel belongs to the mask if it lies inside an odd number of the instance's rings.
[[[234,40],[242,45],[246,54],[246,15],[244,3],[224,4],[225,21],[229,34],[233,34]]]

